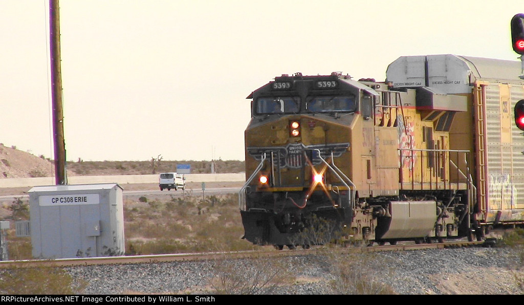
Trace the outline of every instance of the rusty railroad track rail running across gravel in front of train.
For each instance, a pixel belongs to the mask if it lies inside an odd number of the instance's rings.
[[[365,253],[379,251],[405,251],[420,249],[444,249],[456,247],[475,247],[492,245],[494,241],[453,241],[434,244],[397,244],[384,246],[360,247],[346,245],[345,247],[332,247],[330,251],[340,253]],[[260,257],[284,257],[284,256],[305,256],[321,255],[325,253],[327,247],[319,246],[309,249],[285,249],[285,250],[263,250],[263,251],[237,251],[237,252],[208,252],[208,253],[181,253],[181,254],[157,254],[157,255],[133,255],[133,256],[109,256],[109,257],[88,257],[88,258],[61,258],[61,259],[31,259],[31,260],[5,260],[0,262],[0,268],[17,267],[67,267],[67,266],[90,266],[90,265],[110,265],[110,264],[155,264],[166,262],[188,262],[212,259],[241,259],[241,258],[260,258]]]

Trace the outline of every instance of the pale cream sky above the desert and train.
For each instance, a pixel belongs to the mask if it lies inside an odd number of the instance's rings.
[[[0,143],[54,158],[49,0],[0,0]],[[518,60],[523,0],[60,0],[67,160],[244,159],[281,74],[384,80],[401,56]]]

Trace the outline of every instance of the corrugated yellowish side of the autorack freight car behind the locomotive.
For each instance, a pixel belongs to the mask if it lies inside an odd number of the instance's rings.
[[[484,190],[477,189],[478,219],[486,223],[524,220],[524,136],[514,126],[513,107],[522,99],[521,85],[478,81],[476,109],[484,107],[485,120],[476,128],[476,145],[485,137],[482,147],[475,147],[478,179],[486,180]],[[479,107],[480,105],[480,107]],[[485,130],[485,135],[480,134]],[[486,164],[482,163],[483,159]],[[483,196],[482,191],[486,194]],[[520,210],[520,211],[519,211]]]

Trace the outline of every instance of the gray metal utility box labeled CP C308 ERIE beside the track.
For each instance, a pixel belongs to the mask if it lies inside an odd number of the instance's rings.
[[[116,183],[29,190],[32,256],[40,259],[124,255],[124,204]]]

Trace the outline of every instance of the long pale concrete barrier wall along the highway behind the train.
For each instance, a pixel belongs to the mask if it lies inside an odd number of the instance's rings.
[[[188,173],[184,176],[185,182],[246,181],[245,173]],[[158,175],[68,176],[67,179],[68,184],[158,183]],[[0,188],[53,186],[54,184],[54,177],[0,179]]]

